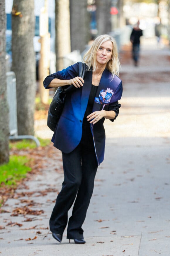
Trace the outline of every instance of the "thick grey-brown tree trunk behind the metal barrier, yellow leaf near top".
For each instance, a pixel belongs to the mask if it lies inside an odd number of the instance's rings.
[[[16,75],[18,135],[34,134],[36,93],[34,32],[34,0],[14,0],[12,71]]]

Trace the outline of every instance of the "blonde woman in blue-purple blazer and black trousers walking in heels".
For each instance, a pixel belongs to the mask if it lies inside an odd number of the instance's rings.
[[[73,84],[75,90],[65,99],[64,109],[52,137],[62,151],[64,182],[50,217],[52,236],[62,241],[68,210],[74,200],[67,227],[67,239],[84,244],[82,225],[93,193],[98,165],[105,147],[104,119],[112,122],[119,113],[122,82],[118,78],[119,60],[115,40],[98,36],[84,56],[86,74],[78,77],[76,63],[46,77],[45,88]]]

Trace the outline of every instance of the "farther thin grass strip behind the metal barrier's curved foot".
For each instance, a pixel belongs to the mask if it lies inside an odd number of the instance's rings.
[[[41,147],[46,147],[50,144],[50,139],[41,139],[38,138]],[[21,139],[17,141],[10,141],[9,149],[34,149],[37,145],[32,139]]]

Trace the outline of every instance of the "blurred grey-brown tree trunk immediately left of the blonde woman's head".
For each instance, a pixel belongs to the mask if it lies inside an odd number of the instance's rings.
[[[90,40],[90,14],[87,0],[70,0],[71,50],[84,51]]]

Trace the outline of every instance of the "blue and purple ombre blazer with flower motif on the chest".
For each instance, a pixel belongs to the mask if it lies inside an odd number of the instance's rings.
[[[43,82],[46,89],[54,78],[72,79],[79,75],[79,64],[58,71],[47,76]],[[74,150],[81,141],[82,122],[86,111],[89,94],[92,84],[92,71],[86,71],[83,87],[75,89],[67,94],[59,122],[57,123],[52,142],[54,146],[64,153],[70,153]],[[94,99],[93,111],[109,110],[109,105],[113,105],[122,96],[122,81],[117,76],[112,77],[111,73],[105,69],[103,71],[101,81],[99,83],[96,97]],[[118,102],[117,102],[118,104]],[[120,104],[118,104],[120,105]],[[121,105],[120,105],[121,106]],[[119,107],[120,107],[119,106]],[[99,120],[96,124],[91,124],[91,132],[96,152],[98,165],[104,159],[105,148],[105,130],[103,126],[105,118]],[[111,120],[111,121],[114,121]]]

